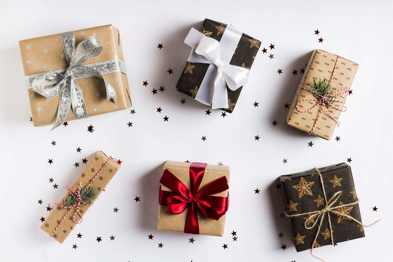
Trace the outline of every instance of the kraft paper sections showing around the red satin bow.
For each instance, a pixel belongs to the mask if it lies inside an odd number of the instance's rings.
[[[177,162],[177,161],[166,161],[163,166],[163,172],[165,170],[169,170],[178,180],[180,180],[184,185],[190,189],[190,166],[191,163],[185,162]],[[224,165],[206,165],[204,170],[204,175],[202,178],[202,182],[200,183],[199,190],[204,189],[206,185],[209,183],[218,180],[222,177],[226,178],[227,183],[229,184],[230,177],[230,167]],[[162,191],[171,191],[168,187],[161,185]],[[214,194],[214,196],[227,197],[228,190],[219,192]],[[171,214],[167,210],[167,206],[160,205],[158,210],[158,223],[157,229],[163,231],[175,231],[175,232],[184,232],[185,221],[187,218],[189,208],[187,208],[184,212],[180,214]],[[207,218],[200,211],[197,211],[198,214],[198,225],[199,225],[199,234],[203,235],[212,235],[212,236],[222,236],[224,233],[224,225],[225,225],[225,214],[219,218],[219,220],[213,220]]]

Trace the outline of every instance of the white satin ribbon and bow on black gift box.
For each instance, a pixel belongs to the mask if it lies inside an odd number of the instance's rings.
[[[184,43],[192,48],[187,61],[210,64],[195,99],[212,109],[228,108],[228,91],[237,90],[248,81],[250,70],[229,64],[242,32],[227,26],[219,41],[191,28]]]

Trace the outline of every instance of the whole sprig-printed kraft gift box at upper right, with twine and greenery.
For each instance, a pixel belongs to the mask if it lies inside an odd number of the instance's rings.
[[[338,118],[345,112],[344,103],[358,64],[316,49],[301,78],[286,123],[300,130],[330,140]]]

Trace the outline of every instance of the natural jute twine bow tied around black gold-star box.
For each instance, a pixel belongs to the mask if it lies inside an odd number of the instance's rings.
[[[342,214],[342,213],[340,213],[340,212],[337,212],[336,209],[340,209],[341,207],[347,207],[347,206],[355,205],[355,204],[359,203],[359,201],[360,201],[359,198],[358,198],[358,200],[357,200],[356,202],[349,203],[349,204],[345,204],[345,205],[338,205],[338,206],[336,206],[336,207],[333,207],[334,203],[336,203],[337,200],[338,200],[338,198],[340,198],[340,196],[341,196],[341,194],[342,194],[342,191],[336,192],[336,193],[328,200],[327,197],[326,197],[325,186],[323,185],[323,179],[322,179],[321,172],[320,172],[320,170],[319,170],[318,168],[316,168],[316,167],[314,167],[314,170],[318,173],[318,175],[319,175],[319,177],[320,177],[320,180],[321,180],[323,196],[325,197],[325,203],[326,203],[325,207],[324,207],[323,209],[321,209],[321,210],[312,211],[312,212],[307,212],[307,213],[302,213],[302,214],[294,214],[294,215],[290,215],[290,214],[286,213],[286,211],[284,211],[285,216],[288,216],[288,217],[298,217],[298,216],[309,215],[309,217],[307,218],[307,220],[304,222],[304,227],[305,227],[306,229],[312,229],[312,228],[314,228],[315,225],[317,224],[318,220],[320,219],[320,223],[319,223],[319,225],[318,225],[318,230],[317,230],[317,233],[316,233],[316,235],[315,235],[314,241],[312,242],[312,246],[311,246],[311,249],[310,249],[310,254],[311,254],[311,255],[312,255],[312,249],[314,249],[314,245],[315,245],[315,243],[316,243],[316,241],[317,241],[317,237],[318,237],[318,235],[319,235],[319,233],[320,233],[321,226],[322,226],[322,222],[323,222],[323,218],[325,218],[325,214],[327,214],[328,220],[329,220],[329,229],[330,229],[330,236],[331,236],[330,238],[331,238],[331,240],[332,240],[332,245],[334,245],[334,240],[333,240],[333,229],[332,229],[332,224],[331,224],[331,221],[330,221],[330,214],[329,214],[330,212],[331,212],[331,213],[334,213],[334,214],[336,214],[336,215],[338,215],[338,216],[344,216],[344,217],[348,218],[349,220],[353,220],[354,222],[358,223],[358,224],[361,225],[362,227],[369,227],[369,226],[374,225],[375,223],[377,223],[377,222],[380,221],[380,219],[378,219],[378,220],[376,220],[375,222],[373,222],[372,224],[364,225],[362,222],[356,220],[356,219],[353,218],[352,216],[349,216],[349,215],[347,215],[347,214]],[[314,218],[315,218],[314,223],[309,227],[308,224],[310,224]],[[324,260],[322,260],[322,258],[316,257],[316,256],[314,256],[314,255],[312,255],[312,257],[317,258],[317,259],[321,260],[322,262],[325,262]]]

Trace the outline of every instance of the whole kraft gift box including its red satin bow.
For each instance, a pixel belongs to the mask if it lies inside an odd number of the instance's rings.
[[[230,167],[167,161],[160,180],[157,229],[222,236]]]

